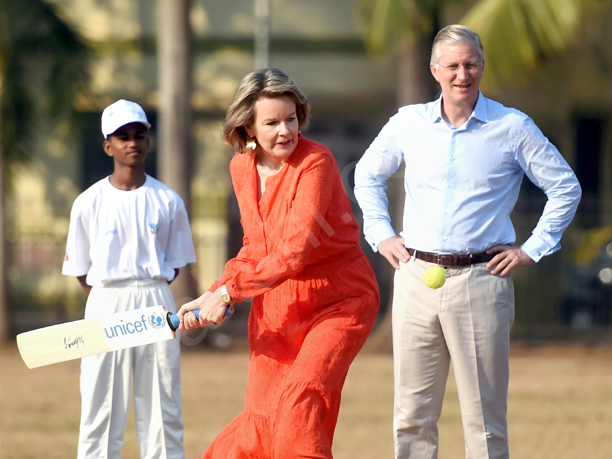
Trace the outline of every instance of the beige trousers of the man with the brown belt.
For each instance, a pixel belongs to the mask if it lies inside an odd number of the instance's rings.
[[[466,459],[507,459],[512,277],[485,263],[446,268],[431,289],[412,257],[394,277],[394,441],[397,459],[436,459],[438,419],[452,361]]]

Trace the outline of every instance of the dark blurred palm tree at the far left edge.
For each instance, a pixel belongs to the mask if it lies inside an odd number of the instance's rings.
[[[3,231],[12,165],[29,160],[28,139],[37,117],[59,121],[73,113],[75,88],[86,80],[86,51],[50,4],[0,0],[0,340],[9,336]],[[35,59],[48,67],[43,87],[33,90],[28,64]]]

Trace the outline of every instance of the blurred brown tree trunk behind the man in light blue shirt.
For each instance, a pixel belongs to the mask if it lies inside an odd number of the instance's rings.
[[[439,87],[429,69],[432,37],[420,36],[407,45],[398,56],[398,105],[430,102],[434,99]],[[397,171],[387,181],[389,214],[395,232],[402,226],[404,210],[404,173]],[[391,353],[393,348],[391,332],[391,304],[393,301],[393,283],[390,283],[391,294],[384,316],[378,327],[372,332],[364,349],[376,353]]]

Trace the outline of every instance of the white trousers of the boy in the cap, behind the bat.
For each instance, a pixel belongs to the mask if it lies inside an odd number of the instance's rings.
[[[119,281],[91,289],[85,318],[160,304],[176,312],[167,282]],[[78,459],[121,458],[132,378],[141,459],[184,459],[178,337],[83,357]]]

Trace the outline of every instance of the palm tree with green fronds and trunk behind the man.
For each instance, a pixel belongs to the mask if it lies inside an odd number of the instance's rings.
[[[371,52],[390,46],[398,54],[398,105],[428,102],[437,86],[429,70],[431,44],[444,8],[458,0],[361,0]],[[594,0],[479,0],[459,22],[480,35],[487,53],[483,90],[526,78],[544,58],[567,48]],[[400,196],[399,179],[388,182]],[[392,221],[401,222],[401,200],[389,200]],[[392,298],[392,295],[389,296]],[[391,307],[368,346],[391,349]]]

